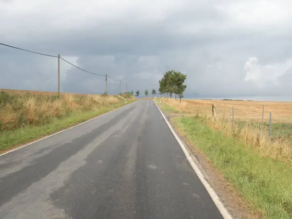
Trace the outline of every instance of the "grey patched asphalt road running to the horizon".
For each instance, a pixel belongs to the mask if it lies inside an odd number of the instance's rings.
[[[221,219],[152,100],[0,157],[0,219]]]

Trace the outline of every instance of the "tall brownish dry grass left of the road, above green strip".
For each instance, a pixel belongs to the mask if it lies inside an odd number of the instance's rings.
[[[71,113],[98,110],[120,104],[124,96],[61,94],[9,94],[0,92],[0,131],[14,130],[26,125],[41,126]]]

